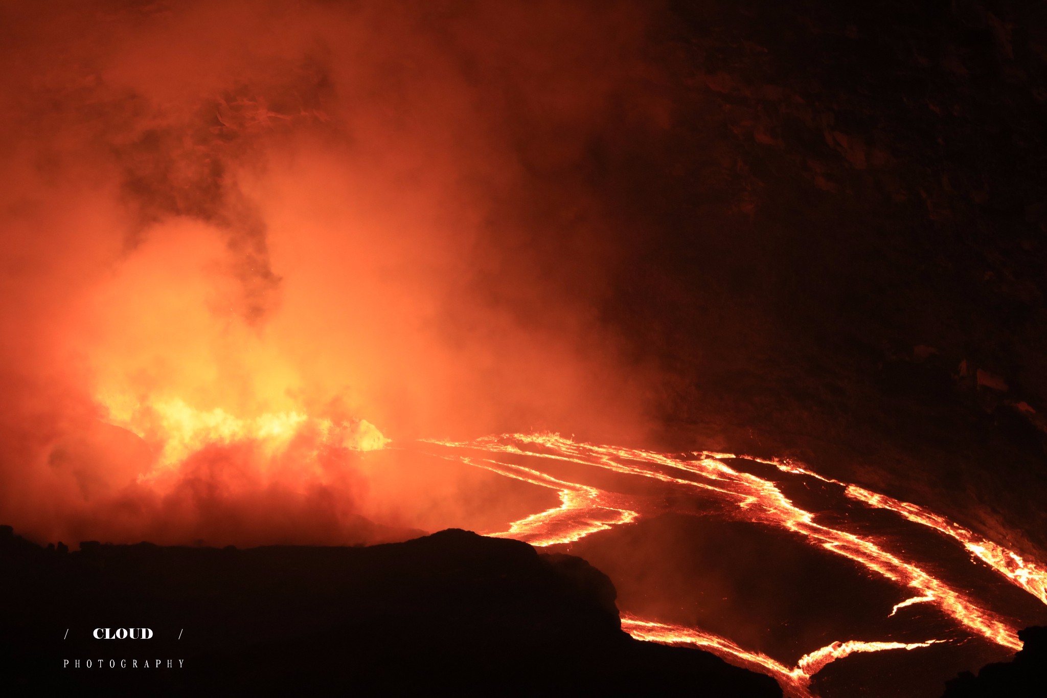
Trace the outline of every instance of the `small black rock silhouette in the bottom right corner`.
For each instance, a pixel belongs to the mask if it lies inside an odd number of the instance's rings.
[[[963,672],[945,684],[942,698],[1047,696],[1047,627],[1020,630],[1023,647],[1013,661],[986,665],[975,676]]]

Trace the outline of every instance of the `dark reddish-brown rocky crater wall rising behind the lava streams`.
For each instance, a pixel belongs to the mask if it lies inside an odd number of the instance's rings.
[[[652,33],[666,128],[593,178],[644,231],[606,315],[677,377],[667,440],[1047,549],[1044,7],[676,2]]]

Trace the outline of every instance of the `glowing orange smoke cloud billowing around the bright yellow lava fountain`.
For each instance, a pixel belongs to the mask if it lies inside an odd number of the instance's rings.
[[[632,4],[0,13],[5,522],[353,542],[384,438],[642,433],[576,166],[664,119]]]

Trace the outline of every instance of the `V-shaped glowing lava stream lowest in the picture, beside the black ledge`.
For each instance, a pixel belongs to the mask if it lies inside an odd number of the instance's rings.
[[[720,656],[727,656],[734,663],[770,674],[785,691],[795,698],[812,698],[807,686],[811,677],[826,665],[843,659],[854,652],[882,652],[884,650],[915,650],[919,647],[930,647],[944,640],[929,639],[926,643],[865,643],[847,640],[832,643],[800,657],[796,667],[787,668],[779,661],[760,652],[749,652],[741,649],[726,637],[703,632],[696,628],[646,621],[629,613],[622,614],[622,630],[637,639],[663,645],[693,645],[710,650]]]

